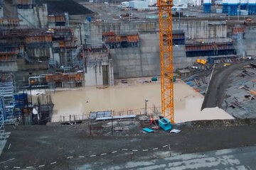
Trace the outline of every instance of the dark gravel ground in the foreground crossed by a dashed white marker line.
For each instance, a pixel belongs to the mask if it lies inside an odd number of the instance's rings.
[[[114,131],[113,135],[111,121],[21,125],[16,129],[7,126],[6,131],[11,132],[11,136],[0,162],[11,160],[1,163],[0,169],[4,166],[6,169],[14,169],[14,166],[22,169],[41,165],[44,166],[40,169],[77,169],[96,164],[104,167],[104,164],[170,157],[170,154],[246,147],[256,144],[256,136],[252,135],[256,132],[255,125],[255,119],[201,120],[174,125],[181,130],[178,134],[161,129],[144,133],[142,128],[151,128],[151,125],[136,118],[114,120],[115,128],[126,130]]]

